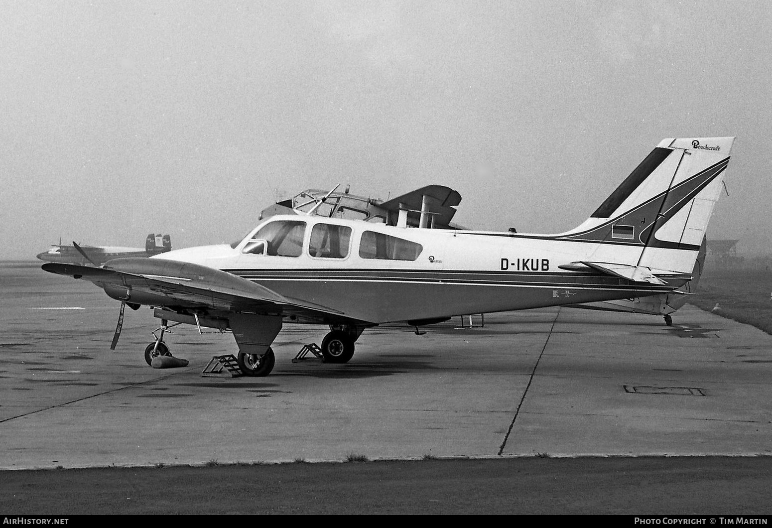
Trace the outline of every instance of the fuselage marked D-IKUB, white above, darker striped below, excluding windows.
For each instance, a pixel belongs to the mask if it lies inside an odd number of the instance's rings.
[[[245,253],[253,235],[269,222],[306,222],[297,256]],[[311,256],[317,224],[350,228],[345,256]],[[420,245],[415,259],[363,258],[364,232]],[[194,262],[249,279],[289,298],[303,299],[357,320],[384,323],[463,313],[522,310],[535,306],[586,303],[663,293],[667,286],[633,285],[597,272],[558,266],[581,260],[634,262],[641,249],[625,245],[550,239],[547,235],[449,232],[382,224],[276,216],[241,242],[178,249],[153,259]]]

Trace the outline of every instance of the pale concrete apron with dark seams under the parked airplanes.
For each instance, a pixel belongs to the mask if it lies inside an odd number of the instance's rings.
[[[772,454],[772,336],[687,305],[569,308],[366,330],[348,364],[293,363],[327,328],[286,325],[269,377],[202,377],[230,333],[168,336],[91,283],[0,264],[0,469],[428,457]],[[474,318],[480,323],[480,317]]]

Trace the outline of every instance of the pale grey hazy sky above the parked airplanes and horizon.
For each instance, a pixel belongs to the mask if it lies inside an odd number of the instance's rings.
[[[305,188],[563,232],[736,136],[710,239],[772,253],[772,2],[0,0],[0,259],[231,242]],[[727,195],[728,193],[728,195]]]

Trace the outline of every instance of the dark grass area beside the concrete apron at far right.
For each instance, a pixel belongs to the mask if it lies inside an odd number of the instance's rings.
[[[758,269],[715,271],[699,279],[689,303],[738,323],[750,324],[772,334],[772,272]]]

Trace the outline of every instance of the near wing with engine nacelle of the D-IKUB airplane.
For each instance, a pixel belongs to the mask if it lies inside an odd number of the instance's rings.
[[[211,316],[240,312],[288,314],[304,322],[318,323],[354,320],[340,310],[282,296],[231,273],[190,262],[113,259],[101,268],[49,262],[42,269],[89,280],[113,299],[169,310],[191,310]]]

